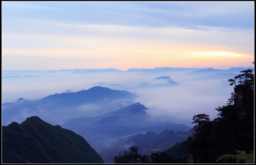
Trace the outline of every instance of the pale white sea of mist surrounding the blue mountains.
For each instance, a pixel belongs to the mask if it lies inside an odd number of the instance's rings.
[[[218,80],[197,80],[200,76],[187,75],[189,72],[110,72],[110,73],[86,73],[72,74],[70,72],[55,73],[29,73],[15,76],[15,72],[10,75],[5,73],[2,77],[2,103],[15,102],[18,98],[27,100],[38,100],[55,93],[63,93],[67,90],[77,92],[87,90],[94,86],[108,87],[114,90],[127,90],[137,93],[137,97],[132,100],[133,103],[140,102],[150,108],[147,113],[151,115],[152,120],[170,121],[177,124],[192,126],[192,117],[196,114],[209,114],[211,119],[217,117],[215,108],[225,105],[230,98],[233,87],[228,83],[223,85],[223,81]],[[5,77],[7,76],[7,77]],[[169,76],[179,85],[168,85],[165,80],[153,80],[157,77]],[[153,84],[154,86],[140,86],[141,82]],[[224,83],[225,84],[225,83]],[[129,102],[129,101],[128,101]],[[126,106],[132,102],[120,105]],[[26,109],[19,110],[4,125],[18,120],[37,115],[42,120],[51,124],[63,124],[64,122],[77,117],[95,116],[116,110],[120,107],[121,101],[113,103],[114,106],[105,109],[105,105],[84,104],[78,107],[56,108],[54,116],[48,114],[44,109],[37,112]],[[50,105],[49,105],[50,106]],[[73,111],[72,115],[67,113]],[[58,116],[58,112],[59,115]],[[67,116],[63,116],[65,113]],[[5,116],[3,116],[4,118]]]

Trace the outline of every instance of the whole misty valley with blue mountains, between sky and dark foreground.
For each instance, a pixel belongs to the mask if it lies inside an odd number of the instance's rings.
[[[228,79],[246,69],[2,70],[2,125],[38,116],[82,136],[105,163],[131,146],[149,156],[191,136],[195,114],[219,117]]]

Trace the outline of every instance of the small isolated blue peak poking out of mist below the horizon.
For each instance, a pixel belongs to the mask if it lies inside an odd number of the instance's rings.
[[[176,86],[179,83],[173,81],[169,76],[162,76],[153,79],[153,81],[143,81],[139,83],[137,86],[142,88],[152,88],[152,87],[160,87],[160,86]]]

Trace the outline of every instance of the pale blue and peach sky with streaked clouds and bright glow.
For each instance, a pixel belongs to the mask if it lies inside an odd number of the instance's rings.
[[[254,67],[254,2],[2,2],[2,70]]]

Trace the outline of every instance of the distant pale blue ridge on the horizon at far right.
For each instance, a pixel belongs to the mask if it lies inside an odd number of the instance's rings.
[[[212,75],[216,73],[239,73],[241,70],[247,70],[247,69],[254,69],[253,67],[237,67],[237,68],[230,68],[228,70],[223,70],[223,69],[213,69],[213,68],[206,68],[206,69],[201,69],[201,70],[195,70],[193,72],[188,73],[187,75],[194,75],[194,76],[207,76],[207,75]]]

